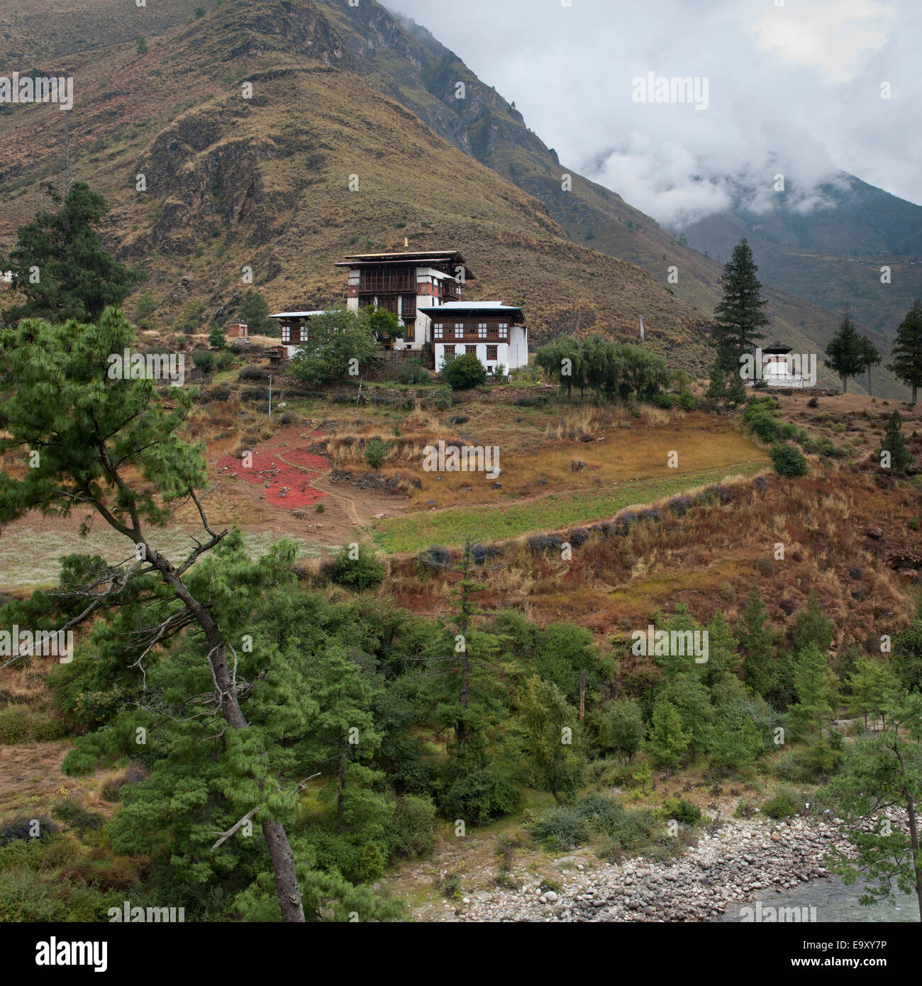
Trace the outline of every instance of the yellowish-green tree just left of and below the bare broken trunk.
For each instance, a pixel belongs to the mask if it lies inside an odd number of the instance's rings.
[[[525,683],[519,722],[532,785],[549,791],[562,805],[576,794],[585,767],[576,709],[555,684],[532,674]]]

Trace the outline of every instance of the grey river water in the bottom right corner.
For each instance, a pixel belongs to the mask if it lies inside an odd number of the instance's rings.
[[[919,920],[919,905],[915,895],[897,893],[889,900],[863,907],[858,898],[864,893],[860,882],[846,886],[837,877],[825,880],[810,880],[800,886],[785,888],[781,893],[772,891],[760,897],[762,904],[761,920],[764,922],[768,915],[768,907],[796,907],[807,921],[823,922],[904,922]],[[741,915],[744,907],[755,907],[755,899],[742,904],[731,904],[726,912],[715,921],[739,922],[746,915]],[[806,909],[805,909],[806,908]],[[816,911],[812,910],[816,908]],[[752,920],[754,915],[749,917]],[[757,917],[755,918],[758,919]]]

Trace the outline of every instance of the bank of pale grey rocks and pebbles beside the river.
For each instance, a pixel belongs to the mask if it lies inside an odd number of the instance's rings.
[[[918,920],[914,898],[863,908],[861,887],[830,877],[823,856],[844,846],[834,819],[762,815],[707,826],[671,865],[642,858],[605,864],[586,850],[552,860],[558,890],[522,874],[518,889],[467,892],[442,913],[417,920],[539,922]],[[516,874],[516,877],[519,877]],[[779,908],[785,908],[779,914]]]

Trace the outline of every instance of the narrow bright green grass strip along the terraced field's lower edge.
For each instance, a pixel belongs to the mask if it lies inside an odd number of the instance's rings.
[[[619,510],[674,496],[682,490],[719,482],[727,476],[750,475],[764,462],[743,462],[698,472],[683,472],[667,479],[636,479],[613,489],[551,494],[529,503],[501,507],[456,507],[423,511],[381,521],[375,542],[390,554],[420,551],[430,544],[453,546],[465,538],[500,541],[539,530],[557,530],[613,517]]]

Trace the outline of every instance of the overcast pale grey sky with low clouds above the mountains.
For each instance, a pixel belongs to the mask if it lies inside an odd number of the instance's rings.
[[[664,225],[723,208],[725,176],[760,207],[776,174],[815,207],[839,169],[922,204],[922,0],[566,2],[387,6],[515,101],[563,164]],[[651,72],[706,80],[707,108],[636,101]]]

